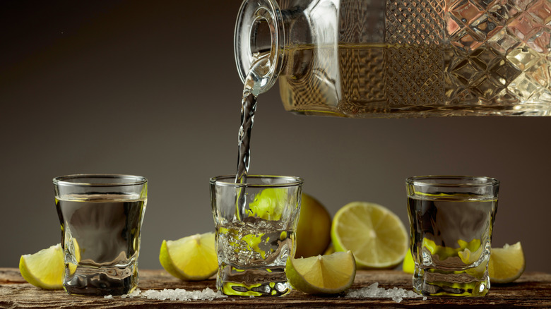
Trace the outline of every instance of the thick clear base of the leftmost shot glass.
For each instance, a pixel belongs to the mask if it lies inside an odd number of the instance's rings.
[[[71,269],[74,269],[71,272]],[[105,296],[131,293],[138,286],[138,268],[66,267],[63,288],[71,295]]]

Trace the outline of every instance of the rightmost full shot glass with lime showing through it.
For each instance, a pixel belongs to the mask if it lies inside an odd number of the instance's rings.
[[[499,181],[417,176],[406,187],[413,289],[425,296],[485,296]]]

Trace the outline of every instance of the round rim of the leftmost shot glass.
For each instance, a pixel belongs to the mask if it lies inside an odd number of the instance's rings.
[[[88,178],[97,178],[99,179],[105,179],[105,181],[97,182],[97,183],[90,183],[90,181],[85,181],[85,179]],[[80,181],[79,181],[80,179]],[[121,179],[126,181],[109,181],[109,179]],[[144,183],[147,183],[148,180],[146,177],[143,176],[135,176],[135,175],[127,175],[127,174],[71,174],[71,175],[65,175],[65,176],[57,176],[53,179],[54,185],[61,185],[61,186],[113,186],[113,187],[121,187],[121,186],[139,186],[143,185]]]

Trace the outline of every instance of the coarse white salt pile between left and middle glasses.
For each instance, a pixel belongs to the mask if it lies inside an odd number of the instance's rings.
[[[147,290],[141,292],[140,289],[136,289],[134,292],[121,296],[126,297],[145,297],[148,299],[158,299],[165,301],[212,301],[214,298],[225,298],[220,291],[213,291],[213,289],[206,288],[203,291],[186,291],[185,289],[163,289],[163,290]]]

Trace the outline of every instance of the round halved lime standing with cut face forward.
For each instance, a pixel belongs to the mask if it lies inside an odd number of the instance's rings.
[[[386,207],[350,202],[335,214],[331,240],[336,251],[351,250],[358,267],[392,268],[408,251],[408,233]]]

